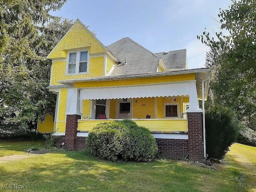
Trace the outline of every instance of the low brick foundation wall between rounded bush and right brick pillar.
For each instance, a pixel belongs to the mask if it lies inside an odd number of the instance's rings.
[[[188,140],[156,138],[161,157],[183,158],[188,154]]]

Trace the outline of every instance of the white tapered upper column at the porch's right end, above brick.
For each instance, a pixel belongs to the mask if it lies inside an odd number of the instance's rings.
[[[199,108],[198,97],[196,92],[196,81],[190,81],[190,90],[189,90],[189,109],[187,112],[202,112],[202,109]]]

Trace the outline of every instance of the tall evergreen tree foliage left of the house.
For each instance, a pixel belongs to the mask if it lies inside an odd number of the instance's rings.
[[[0,125],[36,125],[54,114],[56,97],[46,87],[54,48],[72,21],[51,16],[65,0],[1,0],[0,4]],[[12,115],[11,115],[12,114]]]

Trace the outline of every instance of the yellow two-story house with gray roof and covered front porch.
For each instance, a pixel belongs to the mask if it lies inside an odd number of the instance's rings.
[[[188,69],[185,49],[152,53],[130,38],[104,46],[76,20],[47,58],[55,135],[66,148],[84,148],[100,122],[131,118],[152,132],[162,156],[205,157],[198,100],[207,99],[210,70]]]

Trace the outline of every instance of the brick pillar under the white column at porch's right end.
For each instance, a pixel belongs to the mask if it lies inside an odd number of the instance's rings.
[[[188,152],[189,159],[204,161],[202,112],[187,112],[188,117]]]

